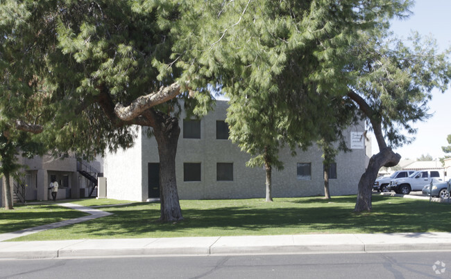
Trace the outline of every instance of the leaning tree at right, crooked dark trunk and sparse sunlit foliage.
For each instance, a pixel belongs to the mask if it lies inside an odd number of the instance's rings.
[[[346,68],[355,73],[348,98],[359,107],[373,130],[379,152],[373,155],[359,181],[355,211],[371,210],[371,191],[382,166],[400,161],[393,147],[409,143],[416,129],[412,123],[426,120],[432,89],[445,91],[451,77],[448,51],[438,53],[431,38],[414,35],[408,43],[380,29],[361,33],[348,53]]]

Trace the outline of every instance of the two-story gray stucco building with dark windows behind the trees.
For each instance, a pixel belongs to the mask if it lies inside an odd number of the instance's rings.
[[[226,101],[200,120],[186,119],[182,112],[176,155],[176,179],[180,199],[241,199],[266,195],[265,170],[248,168],[250,158],[228,139]],[[128,150],[107,153],[103,159],[107,196],[112,199],[146,201],[160,197],[159,157],[155,138],[148,128],[137,127],[135,145]],[[365,172],[371,142],[364,136],[364,124],[344,134],[352,152],[340,152],[332,165],[332,195],[353,195]],[[280,151],[284,170],[273,170],[273,197],[324,195],[322,152],[316,146],[307,152]]]

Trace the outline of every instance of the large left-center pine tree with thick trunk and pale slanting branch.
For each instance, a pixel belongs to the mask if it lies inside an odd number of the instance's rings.
[[[177,1],[28,0],[0,6],[4,49],[11,57],[30,55],[8,68],[34,72],[33,91],[45,96],[42,107],[51,114],[42,121],[46,142],[89,156],[130,147],[133,125],[153,128],[162,221],[182,219],[175,172],[178,100],[189,98],[186,109],[194,114],[210,107],[207,78],[191,66],[192,53],[173,51],[178,36],[187,35],[183,22],[192,22],[192,10]]]

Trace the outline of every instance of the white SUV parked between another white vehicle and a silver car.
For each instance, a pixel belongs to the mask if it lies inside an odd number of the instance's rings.
[[[421,191],[432,179],[443,181],[439,170],[418,170],[409,177],[403,179],[393,179],[387,189],[395,191],[397,194],[408,195],[411,191]]]

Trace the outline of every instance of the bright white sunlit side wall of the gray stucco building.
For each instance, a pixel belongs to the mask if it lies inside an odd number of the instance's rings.
[[[142,135],[138,132],[133,147],[115,153],[106,152],[103,176],[107,179],[108,198],[143,201],[141,142]]]

